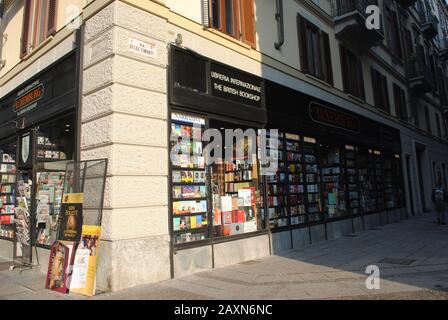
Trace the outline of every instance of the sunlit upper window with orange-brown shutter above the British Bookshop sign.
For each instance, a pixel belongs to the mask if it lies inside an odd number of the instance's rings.
[[[210,25],[255,49],[254,0],[209,1]]]

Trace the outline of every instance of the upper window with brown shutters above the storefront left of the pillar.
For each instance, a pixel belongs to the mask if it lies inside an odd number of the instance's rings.
[[[56,0],[24,1],[21,56],[39,46],[56,32]]]

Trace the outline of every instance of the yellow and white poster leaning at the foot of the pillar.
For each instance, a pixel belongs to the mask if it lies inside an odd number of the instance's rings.
[[[95,295],[98,248],[101,226],[82,226],[81,241],[76,250],[70,290],[86,296]]]

